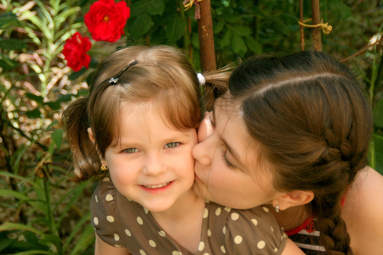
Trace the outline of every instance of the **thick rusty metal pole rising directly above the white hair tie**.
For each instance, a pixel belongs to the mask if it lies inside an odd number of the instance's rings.
[[[201,19],[198,20],[198,36],[200,38],[201,68],[203,71],[211,71],[216,69],[216,59],[210,0],[204,0],[199,4]]]

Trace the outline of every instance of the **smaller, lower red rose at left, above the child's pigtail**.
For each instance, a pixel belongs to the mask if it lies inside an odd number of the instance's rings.
[[[65,41],[62,53],[68,61],[68,66],[75,72],[80,71],[82,66],[89,67],[90,56],[86,53],[92,44],[87,36],[81,37],[80,33],[74,33],[71,38]]]

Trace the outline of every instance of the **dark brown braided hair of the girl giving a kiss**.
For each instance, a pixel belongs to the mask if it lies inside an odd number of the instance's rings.
[[[321,52],[254,57],[234,70],[229,91],[275,188],[313,191],[306,210],[321,245],[352,254],[341,199],[367,165],[372,114],[350,70]]]

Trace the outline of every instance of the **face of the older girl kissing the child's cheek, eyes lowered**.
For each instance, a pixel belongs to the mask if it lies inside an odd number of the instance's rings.
[[[259,148],[249,136],[238,110],[216,101],[199,132],[206,138],[193,149],[196,194],[236,209],[270,204],[277,195],[266,164],[256,169]],[[210,119],[210,121],[209,121]],[[207,125],[207,126],[204,126]],[[209,126],[211,125],[211,127]],[[203,139],[204,137],[199,137]]]

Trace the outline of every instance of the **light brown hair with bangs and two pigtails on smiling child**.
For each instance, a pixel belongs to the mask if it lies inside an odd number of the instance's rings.
[[[126,69],[116,84],[110,78]],[[229,69],[205,73],[205,99],[227,89]],[[65,135],[72,151],[74,180],[100,175],[100,157],[119,142],[119,108],[126,103],[153,105],[164,121],[177,130],[198,127],[203,108],[201,88],[193,67],[180,49],[170,46],[132,46],[120,49],[98,65],[88,96],[71,102],[62,114]],[[92,128],[95,145],[88,136]]]

